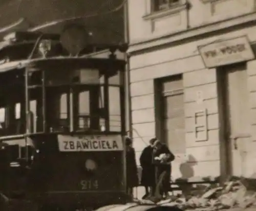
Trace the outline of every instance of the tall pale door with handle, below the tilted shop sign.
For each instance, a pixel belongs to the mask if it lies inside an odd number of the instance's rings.
[[[246,64],[234,64],[218,70],[218,86],[226,174],[246,176],[250,142],[250,107]]]

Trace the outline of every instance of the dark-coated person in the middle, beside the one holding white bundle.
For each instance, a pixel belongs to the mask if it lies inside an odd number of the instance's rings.
[[[142,199],[145,199],[150,195],[149,188],[152,192],[155,192],[155,166],[152,163],[153,160],[153,146],[157,139],[151,139],[150,145],[145,147],[140,155],[140,166],[142,168],[141,185],[145,187],[145,195]]]

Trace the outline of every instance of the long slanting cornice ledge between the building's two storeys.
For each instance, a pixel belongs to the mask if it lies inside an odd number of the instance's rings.
[[[150,50],[151,48],[159,47],[161,45],[191,39],[193,37],[202,36],[207,33],[217,32],[254,21],[256,22],[256,13],[247,13],[246,15],[241,15],[236,18],[230,18],[214,23],[201,25],[199,27],[191,28],[178,33],[165,34],[151,39],[144,39],[141,41],[133,42],[130,43],[129,50],[127,52],[130,54],[130,56],[132,56],[133,54],[137,54],[139,51],[142,50]]]

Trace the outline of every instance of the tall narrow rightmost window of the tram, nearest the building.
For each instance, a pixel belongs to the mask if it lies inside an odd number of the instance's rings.
[[[121,131],[120,88],[109,87],[110,131]]]

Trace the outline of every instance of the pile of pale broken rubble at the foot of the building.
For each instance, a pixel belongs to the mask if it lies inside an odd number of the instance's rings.
[[[226,182],[222,187],[211,185],[205,190],[191,191],[189,196],[170,196],[157,204],[177,206],[183,210],[214,211],[235,207],[245,209],[256,206],[256,191],[250,190],[249,187],[250,184],[245,180],[233,180]]]

